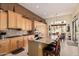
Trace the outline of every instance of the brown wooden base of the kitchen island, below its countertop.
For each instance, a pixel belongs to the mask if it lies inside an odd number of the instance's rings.
[[[28,54],[29,56],[43,56],[43,48],[47,44],[34,41],[34,40],[28,40]]]

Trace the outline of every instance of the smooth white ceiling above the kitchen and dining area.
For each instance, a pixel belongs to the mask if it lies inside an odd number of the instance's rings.
[[[20,5],[43,18],[67,15],[73,12],[76,3],[20,3]]]

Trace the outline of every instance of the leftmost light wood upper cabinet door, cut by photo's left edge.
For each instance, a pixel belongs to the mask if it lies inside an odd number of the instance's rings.
[[[0,30],[7,28],[7,13],[0,10]]]

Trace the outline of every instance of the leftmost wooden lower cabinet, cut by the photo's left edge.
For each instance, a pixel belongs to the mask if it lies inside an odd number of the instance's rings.
[[[10,42],[8,39],[0,40],[0,55],[9,52],[9,45],[10,45]]]

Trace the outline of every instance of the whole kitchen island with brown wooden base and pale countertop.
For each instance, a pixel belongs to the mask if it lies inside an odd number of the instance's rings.
[[[40,40],[28,40],[28,55],[43,56],[43,48],[52,42],[54,42],[54,40],[50,40],[49,38],[42,38]]]

